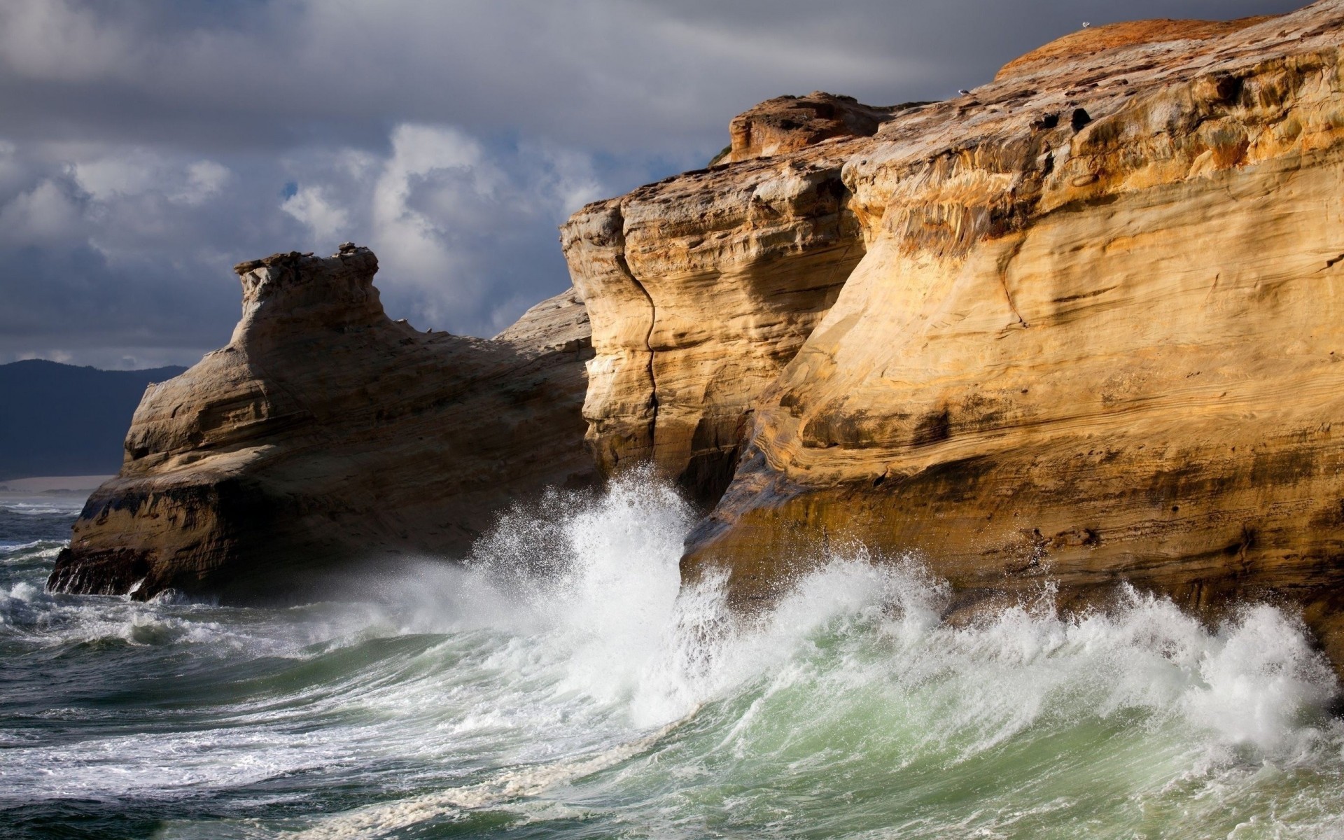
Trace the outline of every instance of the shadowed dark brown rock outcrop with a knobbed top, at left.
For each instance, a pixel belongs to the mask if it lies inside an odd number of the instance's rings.
[[[461,554],[512,500],[594,478],[573,292],[465,339],[388,320],[376,269],[353,246],[239,265],[233,340],[145,391],[48,586],[284,598],[344,560]]]

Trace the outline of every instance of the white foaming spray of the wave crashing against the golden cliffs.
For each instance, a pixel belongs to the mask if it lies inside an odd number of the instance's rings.
[[[460,581],[470,581],[476,597],[449,601],[461,610],[454,622],[527,628],[488,661],[505,681],[535,683],[499,696],[511,708],[458,719],[453,734],[526,728],[560,757],[360,808],[308,824],[302,836],[386,836],[544,797],[622,762],[636,767],[620,775],[638,777],[659,763],[645,754],[706,704],[718,707],[706,715],[723,715],[711,753],[732,758],[714,771],[703,755],[664,762],[681,762],[685,778],[777,766],[856,715],[892,724],[864,732],[860,746],[891,753],[898,766],[931,757],[954,767],[1032,730],[1134,714],[1159,743],[1180,734],[1152,755],[1149,774],[1164,784],[1193,774],[1216,789],[1245,784],[1245,773],[1227,777],[1239,766],[1337,761],[1339,726],[1321,712],[1333,675],[1300,622],[1274,607],[1249,607],[1210,632],[1171,602],[1130,591],[1106,614],[1063,618],[1028,603],[953,628],[939,621],[945,585],[918,562],[875,562],[857,550],[746,620],[726,609],[722,577],[679,594],[688,511],[671,491],[650,491],[646,477],[617,482],[591,503],[556,496],[534,515],[505,517],[482,540],[474,570]],[[737,698],[753,699],[739,708]],[[586,738],[575,731],[585,726]],[[848,761],[821,750],[789,766],[827,773]],[[1059,802],[996,818],[1007,828],[1064,808]]]

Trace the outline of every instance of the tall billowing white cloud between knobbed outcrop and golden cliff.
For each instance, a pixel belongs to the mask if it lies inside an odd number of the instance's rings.
[[[554,144],[402,124],[390,145],[366,199],[368,243],[386,300],[410,301],[425,327],[492,335],[560,290],[555,227],[610,191],[590,155]]]

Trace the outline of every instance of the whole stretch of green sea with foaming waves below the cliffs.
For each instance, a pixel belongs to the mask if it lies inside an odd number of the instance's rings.
[[[968,628],[914,560],[767,616],[679,595],[656,484],[504,517],[345,602],[47,595],[0,503],[3,837],[1340,837],[1337,687],[1273,607]]]

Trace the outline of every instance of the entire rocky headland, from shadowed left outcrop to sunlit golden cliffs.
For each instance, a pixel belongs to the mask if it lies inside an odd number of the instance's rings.
[[[233,343],[146,392],[52,586],[460,554],[652,461],[708,511],[683,575],[742,606],[863,544],[953,617],[1271,599],[1344,663],[1341,24],[1114,24],[945,102],[771,99],[578,211],[578,297],[493,341],[388,321],[364,250],[245,263]]]

